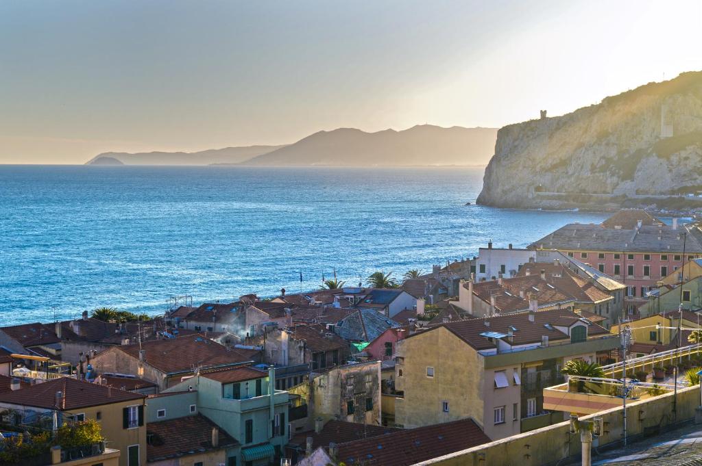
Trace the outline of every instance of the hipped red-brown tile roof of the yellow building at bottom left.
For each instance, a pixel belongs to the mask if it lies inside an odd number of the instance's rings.
[[[62,377],[53,381],[37,383],[37,385],[14,392],[0,393],[0,403],[54,409],[56,408],[56,392],[63,394],[62,403],[59,406],[61,411],[73,411],[88,406],[101,406],[146,398],[146,395],[140,393],[126,392],[97,383]]]

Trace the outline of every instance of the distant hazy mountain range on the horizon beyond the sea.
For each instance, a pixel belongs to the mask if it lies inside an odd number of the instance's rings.
[[[227,147],[201,152],[101,153],[89,165],[249,165],[347,167],[485,165],[494,153],[497,128],[441,128],[364,132],[319,131],[286,146]]]

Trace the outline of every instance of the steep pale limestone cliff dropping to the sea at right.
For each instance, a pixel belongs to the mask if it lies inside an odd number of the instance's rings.
[[[690,72],[571,114],[501,128],[477,202],[558,207],[581,194],[610,195],[580,196],[597,203],[698,190],[702,72]]]

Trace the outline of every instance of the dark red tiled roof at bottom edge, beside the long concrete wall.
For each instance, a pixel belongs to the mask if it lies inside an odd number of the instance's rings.
[[[336,459],[347,465],[409,466],[489,441],[475,421],[463,419],[338,444]]]

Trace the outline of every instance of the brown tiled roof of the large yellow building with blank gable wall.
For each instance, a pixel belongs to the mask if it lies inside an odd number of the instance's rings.
[[[516,330],[512,330],[513,345],[526,345],[529,343],[540,343],[541,336],[548,336],[549,341],[562,341],[568,340],[569,336],[564,334],[559,329],[552,327],[554,325],[561,325],[569,327],[571,324],[580,319],[581,316],[577,315],[571,310],[542,310],[534,313],[534,322],[529,320],[529,313],[515,313],[498,315],[496,317],[488,318],[477,318],[477,319],[465,319],[459,320],[457,322],[448,322],[446,324],[440,324],[436,327],[431,327],[425,331],[433,331],[439,327],[444,327],[451,333],[461,338],[461,340],[468,343],[476,350],[490,350],[496,348],[495,343],[492,343],[487,336],[483,336],[486,332],[496,332],[498,334],[505,335],[503,341],[507,341],[509,338],[510,327]],[[489,327],[485,323],[489,323]],[[550,328],[546,327],[550,324]],[[424,331],[420,331],[416,334],[407,336],[407,338],[413,338],[416,335],[423,334]],[[588,336],[600,336],[609,334],[607,329],[600,327],[595,323],[588,325]]]

